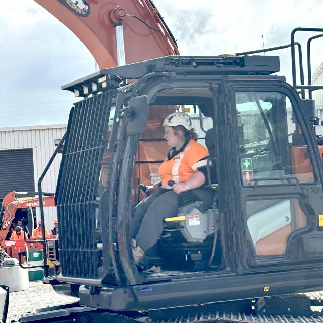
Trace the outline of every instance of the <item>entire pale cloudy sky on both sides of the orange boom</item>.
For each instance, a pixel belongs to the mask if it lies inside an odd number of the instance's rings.
[[[154,4],[182,55],[261,49],[262,36],[265,48],[286,45],[295,27],[323,28],[321,0],[231,0],[230,8],[214,0],[154,0]],[[33,0],[0,0],[0,8],[0,128],[67,123],[75,97],[60,86],[94,72],[94,58]],[[312,35],[296,33],[304,57]],[[290,49],[271,54],[280,56],[278,74],[291,83]],[[323,38],[312,42],[311,56],[313,74],[323,62]]]

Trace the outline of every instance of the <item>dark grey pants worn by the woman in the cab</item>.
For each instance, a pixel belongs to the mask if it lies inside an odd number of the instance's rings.
[[[197,188],[192,190],[198,200],[211,208],[214,192],[211,189]],[[165,218],[174,217],[178,211],[178,194],[173,190],[160,189],[151,194],[135,207],[131,221],[131,237],[144,251],[154,246],[163,231]]]

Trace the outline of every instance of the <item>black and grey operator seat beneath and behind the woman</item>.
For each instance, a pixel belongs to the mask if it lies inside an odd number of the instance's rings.
[[[198,201],[188,201],[181,205],[176,217],[165,219],[164,231],[159,240],[159,252],[165,265],[173,268],[189,270],[206,270],[213,248],[214,237],[217,237],[218,210],[216,210],[216,149],[214,128],[206,132],[205,144],[209,150],[208,178],[206,189],[212,190],[213,207]],[[182,193],[185,194],[185,193]],[[216,239],[216,238],[215,238]],[[167,267],[168,267],[167,266]]]

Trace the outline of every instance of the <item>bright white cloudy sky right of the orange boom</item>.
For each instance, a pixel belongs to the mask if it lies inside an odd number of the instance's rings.
[[[231,0],[227,7],[210,0],[199,3],[195,0],[155,0],[154,4],[178,38],[183,55],[217,55],[261,49],[261,35],[266,48],[287,45],[294,28],[323,27],[323,2],[319,0],[309,0],[306,4],[296,0]],[[296,33],[295,39],[302,44],[304,58],[306,41],[311,35],[313,33]],[[312,47],[313,73],[323,61],[323,38],[313,41]],[[290,49],[266,55],[281,56],[280,74],[292,82]]]

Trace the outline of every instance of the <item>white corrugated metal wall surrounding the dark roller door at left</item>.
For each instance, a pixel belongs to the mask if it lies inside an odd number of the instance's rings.
[[[53,154],[56,146],[55,139],[61,139],[66,131],[66,124],[42,125],[30,127],[0,128],[0,150],[32,148],[34,164],[35,190],[37,191],[38,178]],[[43,180],[44,192],[55,192],[59,172],[60,154],[53,161]],[[12,174],[15,176],[15,174]],[[56,208],[45,208],[45,224],[50,230],[56,218]],[[39,219],[37,208],[37,219]]]

